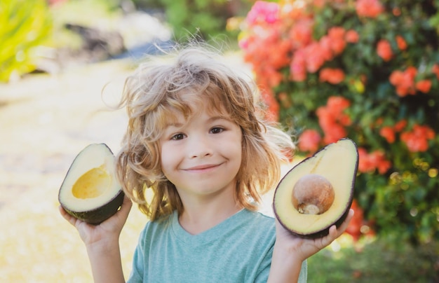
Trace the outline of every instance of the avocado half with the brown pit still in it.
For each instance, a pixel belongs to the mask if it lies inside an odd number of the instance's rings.
[[[358,170],[358,150],[351,139],[328,144],[302,160],[279,182],[274,214],[291,233],[323,237],[349,213]]]

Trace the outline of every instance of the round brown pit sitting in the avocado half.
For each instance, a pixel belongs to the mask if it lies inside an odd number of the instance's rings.
[[[323,214],[334,198],[332,184],[319,174],[305,174],[292,189],[292,205],[301,214]]]

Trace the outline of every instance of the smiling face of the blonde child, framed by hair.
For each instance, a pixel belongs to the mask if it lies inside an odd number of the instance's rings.
[[[161,144],[161,166],[180,197],[203,198],[234,190],[241,167],[241,128],[215,113],[198,111],[170,121]]]

